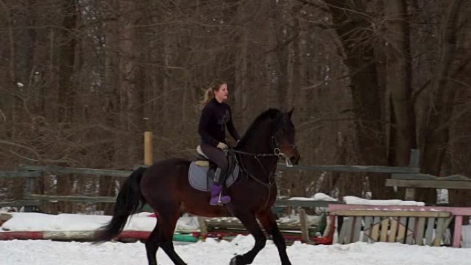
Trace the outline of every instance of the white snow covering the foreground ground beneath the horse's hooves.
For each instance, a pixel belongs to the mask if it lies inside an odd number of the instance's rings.
[[[229,264],[234,254],[245,253],[253,246],[251,236],[239,236],[232,242],[206,242],[175,246],[176,252],[189,265]],[[295,242],[288,246],[293,265],[469,265],[471,251],[465,248],[409,246],[399,243],[311,246]],[[172,265],[159,249],[159,265]],[[144,244],[112,243],[101,245],[45,240],[0,241],[0,265],[129,265],[147,264]],[[254,265],[280,264],[272,242],[255,257]]]

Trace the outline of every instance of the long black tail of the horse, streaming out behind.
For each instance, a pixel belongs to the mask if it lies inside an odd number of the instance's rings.
[[[114,204],[113,218],[95,233],[94,244],[112,240],[123,231],[129,215],[143,209],[145,200],[139,183],[144,171],[144,167],[139,167],[124,182]]]

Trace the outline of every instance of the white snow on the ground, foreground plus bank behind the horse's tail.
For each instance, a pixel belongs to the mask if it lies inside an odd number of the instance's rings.
[[[6,231],[90,231],[109,220],[109,216],[42,213],[10,213],[13,218],[1,226]],[[149,213],[134,215],[126,229],[149,231],[155,218]],[[195,218],[180,218],[180,228],[196,226]],[[1,233],[1,232],[0,232]],[[176,245],[176,252],[189,265],[229,264],[233,255],[242,254],[252,248],[251,236],[238,236],[231,242],[208,238],[205,242]],[[295,242],[287,247],[293,265],[465,265],[470,264],[471,251],[466,248],[410,246],[399,243],[368,244],[357,242],[348,245],[313,246]],[[171,265],[170,259],[160,249],[158,264]],[[48,240],[0,241],[0,265],[127,265],[147,264],[145,246],[141,242],[106,242],[92,245],[87,242],[53,242]],[[255,265],[280,264],[278,250],[273,242],[255,257]]]

